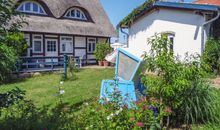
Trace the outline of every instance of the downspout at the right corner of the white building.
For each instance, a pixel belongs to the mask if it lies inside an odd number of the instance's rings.
[[[220,17],[220,10],[218,9],[218,14],[216,17],[214,17],[213,19],[206,21],[205,23],[202,24],[202,47],[201,47],[201,55],[203,54],[203,51],[205,49],[205,39],[204,39],[204,28],[206,25],[211,24],[212,22],[214,22],[215,20],[217,20]]]

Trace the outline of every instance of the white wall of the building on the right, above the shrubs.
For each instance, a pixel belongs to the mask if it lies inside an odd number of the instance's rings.
[[[155,33],[172,31],[174,53],[184,57],[185,53],[201,54],[201,25],[204,17],[192,11],[160,9],[136,21],[129,28],[129,50],[136,55],[149,51],[147,39]]]

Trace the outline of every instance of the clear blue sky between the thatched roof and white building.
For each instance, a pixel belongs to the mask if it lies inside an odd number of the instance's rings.
[[[134,8],[144,3],[145,0],[100,0],[106,13],[108,14],[114,27],[127,16]],[[178,1],[178,0],[167,0]],[[192,2],[193,0],[185,0],[185,2]],[[119,41],[126,42],[126,37],[120,33]],[[112,40],[114,42],[115,39]]]

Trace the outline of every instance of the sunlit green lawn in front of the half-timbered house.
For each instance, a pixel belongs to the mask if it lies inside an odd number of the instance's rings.
[[[41,107],[43,105],[54,106],[58,102],[55,93],[58,91],[61,74],[43,74],[42,76],[27,78],[13,84],[0,86],[0,92],[19,87],[26,91],[26,98]],[[77,73],[74,81],[64,82],[65,94],[63,101],[69,104],[80,103],[94,97],[99,97],[102,79],[112,79],[114,69],[82,69]]]

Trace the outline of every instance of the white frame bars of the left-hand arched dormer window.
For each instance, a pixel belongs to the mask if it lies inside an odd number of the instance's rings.
[[[27,3],[30,3],[30,10],[26,10],[25,9],[25,4]],[[34,9],[33,9],[33,4],[36,4],[38,6],[38,12],[35,12]],[[21,6],[23,6],[23,10],[19,10],[21,8]],[[40,9],[42,9],[43,13],[40,12]],[[17,8],[17,11],[19,12],[23,12],[23,13],[32,13],[32,14],[41,14],[41,15],[47,15],[44,8],[37,2],[34,2],[34,1],[25,1],[25,2],[22,2],[18,8]]]

